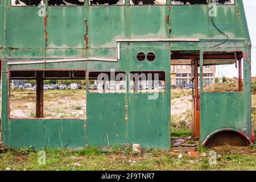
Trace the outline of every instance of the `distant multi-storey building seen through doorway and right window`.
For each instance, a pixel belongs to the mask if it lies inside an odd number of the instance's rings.
[[[200,69],[198,72],[200,73]],[[203,72],[204,86],[212,85],[215,82],[216,66],[204,66]],[[190,78],[190,65],[171,65],[171,85],[191,84]]]

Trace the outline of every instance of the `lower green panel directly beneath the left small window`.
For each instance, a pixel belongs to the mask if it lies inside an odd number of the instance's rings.
[[[87,142],[93,146],[127,143],[126,94],[87,93]]]

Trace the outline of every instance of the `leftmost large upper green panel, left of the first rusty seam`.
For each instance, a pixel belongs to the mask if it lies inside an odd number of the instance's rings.
[[[10,1],[8,1],[10,2]],[[44,48],[44,17],[38,7],[6,6],[6,47]]]

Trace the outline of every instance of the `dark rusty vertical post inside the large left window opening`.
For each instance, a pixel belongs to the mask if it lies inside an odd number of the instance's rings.
[[[36,118],[44,117],[44,101],[43,101],[43,72],[36,72]]]

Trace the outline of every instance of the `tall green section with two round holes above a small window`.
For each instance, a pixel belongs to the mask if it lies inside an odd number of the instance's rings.
[[[130,76],[127,77],[127,82],[130,82],[127,84],[127,141],[141,144],[142,148],[170,147],[170,52],[167,46],[167,43],[130,43],[128,48],[127,74]],[[141,61],[137,59],[140,52],[145,55]],[[155,54],[153,61],[148,60],[148,53]],[[146,83],[143,78],[137,81],[135,74],[131,75],[133,73],[140,76],[144,73]],[[151,78],[148,75],[150,73]],[[159,79],[154,79],[154,76],[157,77],[155,73],[159,73]],[[151,80],[155,81],[155,88],[150,90]],[[156,83],[157,80],[161,80],[164,90]],[[134,82],[138,83],[138,90]]]

